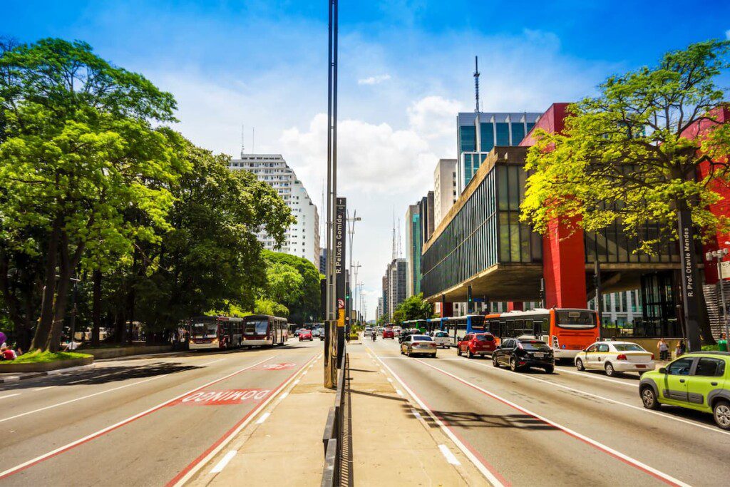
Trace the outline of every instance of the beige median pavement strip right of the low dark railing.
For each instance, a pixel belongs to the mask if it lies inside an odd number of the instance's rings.
[[[488,485],[440,429],[412,414],[412,404],[396,393],[364,345],[350,342],[347,352],[354,485]],[[439,445],[461,465],[450,464]]]

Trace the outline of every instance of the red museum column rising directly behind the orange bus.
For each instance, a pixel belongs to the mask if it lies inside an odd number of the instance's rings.
[[[572,232],[572,233],[571,233]],[[585,308],[585,248],[583,230],[574,222],[553,221],[542,237],[545,307]]]

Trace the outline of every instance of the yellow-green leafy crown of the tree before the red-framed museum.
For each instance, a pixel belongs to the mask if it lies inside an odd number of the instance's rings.
[[[615,221],[642,250],[677,239],[680,212],[701,233],[729,229],[708,205],[721,196],[710,184],[729,180],[730,125],[712,110],[723,102],[718,75],[729,67],[730,42],[711,40],[666,53],[657,66],[612,76],[600,94],[570,107],[564,133],[537,131],[528,153],[522,221],[540,233],[551,221],[598,231]],[[706,131],[691,137],[702,123]],[[709,156],[707,177],[696,177]],[[648,231],[648,222],[659,223]],[[709,325],[701,320],[704,339]]]

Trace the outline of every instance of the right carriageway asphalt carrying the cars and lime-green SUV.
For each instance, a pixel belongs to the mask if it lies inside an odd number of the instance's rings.
[[[397,340],[365,341],[420,415],[460,444],[492,483],[693,485],[730,482],[730,433],[711,415],[642,407],[638,375],[510,372],[491,358],[407,358]],[[468,452],[468,453],[467,453]]]

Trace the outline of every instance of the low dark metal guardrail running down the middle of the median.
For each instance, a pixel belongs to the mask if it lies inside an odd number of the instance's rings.
[[[342,349],[337,373],[337,394],[334,396],[334,406],[329,408],[327,422],[324,426],[322,442],[324,445],[324,469],[322,471],[322,487],[339,486],[340,464],[342,463],[342,429],[345,423],[345,380],[349,367],[347,351]]]

